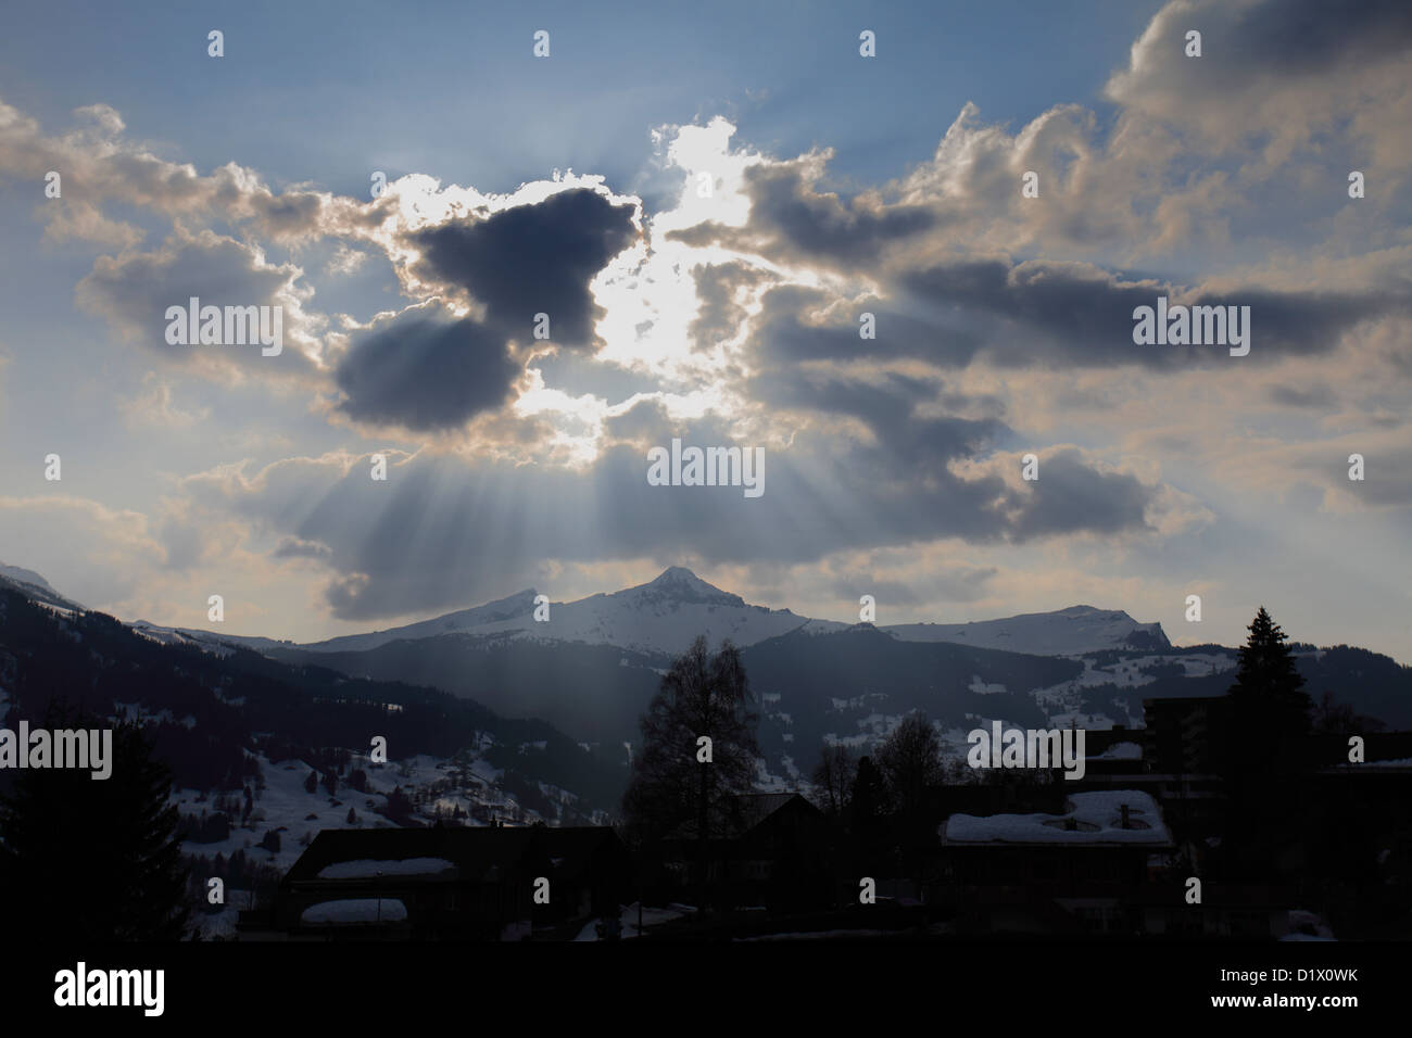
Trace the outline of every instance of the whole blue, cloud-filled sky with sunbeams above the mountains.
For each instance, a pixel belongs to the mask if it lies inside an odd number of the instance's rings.
[[[8,11],[0,561],[301,641],[685,565],[1412,661],[1412,8],[661,7]]]

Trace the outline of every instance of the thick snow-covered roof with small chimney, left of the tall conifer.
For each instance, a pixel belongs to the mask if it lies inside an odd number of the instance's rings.
[[[1123,828],[1123,805],[1128,828]],[[1135,789],[1076,792],[1063,815],[952,815],[942,830],[946,843],[1165,845],[1171,842],[1162,812]]]

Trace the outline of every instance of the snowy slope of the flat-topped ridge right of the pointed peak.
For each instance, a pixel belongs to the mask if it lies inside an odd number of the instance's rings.
[[[895,624],[884,631],[902,641],[955,641],[1032,655],[1083,655],[1108,648],[1171,648],[1162,624],[1139,624],[1123,610],[1070,606],[966,624]]]

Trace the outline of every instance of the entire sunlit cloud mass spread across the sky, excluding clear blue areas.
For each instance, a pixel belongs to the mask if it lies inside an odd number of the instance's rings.
[[[1233,541],[1213,530],[1228,537],[1257,487],[1310,513],[1408,507],[1408,38],[1405,4],[1180,0],[1101,106],[1042,103],[1012,129],[966,103],[926,161],[861,189],[829,175],[827,147],[770,157],[731,148],[724,119],[665,127],[654,184],[681,179],[665,212],[582,175],[508,195],[425,174],[371,201],[274,191],[234,162],[158,157],[106,106],[62,133],[0,107],[0,172],[64,172],[40,215],[51,239],[119,250],[76,290],[116,335],[219,391],[292,371],[316,397],[264,401],[213,451],[246,451],[256,424],[308,445],[329,422],[315,446],[261,442],[263,465],[213,465],[151,518],[124,515],[157,534],[114,565],[172,600],[203,602],[175,583],[196,573],[249,576],[251,597],[315,573],[298,609],[360,623],[690,556],[791,604],[794,589],[849,604],[863,580],[897,604],[1066,604],[1100,583],[1178,602],[1163,566],[1220,558]],[[1365,199],[1347,198],[1351,168]],[[144,249],[154,216],[172,229]],[[329,332],[298,264],[340,278],[360,257],[404,298]],[[260,364],[167,347],[164,309],[189,295],[282,301],[295,347]],[[1251,354],[1134,345],[1132,309],[1158,295],[1250,305]],[[541,312],[549,343],[531,338]],[[150,376],[128,411],[198,432],[172,393]],[[222,400],[202,397],[234,415]],[[385,483],[366,426],[405,448]],[[764,497],[648,486],[645,451],[675,436],[762,446]],[[297,449],[328,453],[270,462]],[[1354,449],[1365,484],[1343,472]],[[1125,552],[1141,576],[1093,576],[1084,551]]]

